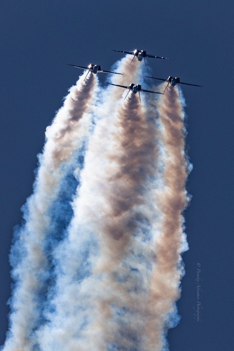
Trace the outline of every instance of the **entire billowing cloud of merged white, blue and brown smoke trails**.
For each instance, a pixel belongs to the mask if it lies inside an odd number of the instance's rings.
[[[124,75],[111,82],[143,85],[142,62],[129,63],[118,61]],[[6,351],[159,351],[178,319],[187,249],[182,102],[174,88],[140,104],[121,88],[98,87],[93,74],[83,79],[46,130],[13,246]]]

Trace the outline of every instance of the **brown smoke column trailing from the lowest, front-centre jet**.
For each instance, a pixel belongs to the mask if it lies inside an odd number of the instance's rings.
[[[137,95],[130,95],[125,105],[118,108],[117,120],[116,151],[109,155],[109,162],[114,163],[116,169],[105,179],[105,188],[101,188],[105,190],[106,212],[96,224],[100,235],[100,257],[94,272],[103,274],[102,289],[108,294],[96,296],[99,317],[92,328],[97,330],[101,325],[105,343],[130,350],[140,344],[139,335],[147,322],[145,290],[148,272],[134,256],[154,257],[152,246],[141,241],[142,233],[139,232],[141,221],[150,221],[154,216],[152,210],[155,209],[150,206],[148,191],[152,190],[149,179],[157,174],[158,133]],[[131,269],[143,273],[145,281],[141,277],[137,281]],[[125,276],[129,278],[123,283]],[[116,311],[122,309],[131,311],[122,318],[126,324],[124,327],[115,316]],[[99,350],[102,347],[100,343]]]

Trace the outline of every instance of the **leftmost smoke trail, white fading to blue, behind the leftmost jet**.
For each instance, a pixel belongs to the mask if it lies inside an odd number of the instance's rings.
[[[59,184],[69,169],[74,151],[82,147],[91,128],[91,101],[96,95],[96,77],[83,77],[70,89],[64,106],[46,130],[44,152],[34,184],[34,194],[24,210],[25,225],[17,233],[12,249],[13,279],[16,282],[11,298],[10,330],[4,350],[31,350],[34,330],[41,318],[42,292],[46,293],[48,260],[46,238],[50,234],[50,206],[59,191]],[[64,166],[64,162],[65,166]],[[44,297],[45,299],[45,297]]]

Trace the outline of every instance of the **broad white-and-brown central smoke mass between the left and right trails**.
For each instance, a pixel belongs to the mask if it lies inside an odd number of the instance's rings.
[[[127,75],[141,77],[139,62],[129,67],[124,59],[118,69],[123,65]],[[150,222],[157,215],[147,194],[157,176],[157,129],[138,96],[122,103],[119,95],[109,87],[98,111],[102,119],[86,152],[75,217],[57,252],[55,311],[38,332],[42,350],[128,350],[146,324],[155,259]],[[131,326],[123,327],[128,319]]]

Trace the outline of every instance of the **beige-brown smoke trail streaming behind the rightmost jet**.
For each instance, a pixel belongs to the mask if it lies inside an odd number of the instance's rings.
[[[183,274],[181,252],[184,244],[183,217],[188,198],[185,191],[187,161],[184,157],[183,110],[178,92],[168,87],[158,104],[164,145],[164,191],[157,203],[162,211],[161,234],[156,240],[156,266],[152,274],[146,327],[146,349],[160,351],[168,329],[168,314],[175,312]]]

